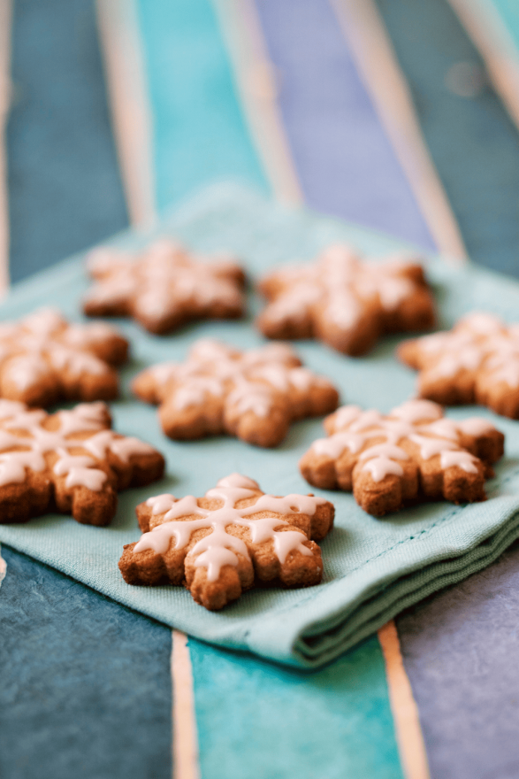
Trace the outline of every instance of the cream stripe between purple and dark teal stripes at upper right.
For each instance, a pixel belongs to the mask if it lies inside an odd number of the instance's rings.
[[[331,0],[355,65],[439,251],[467,256],[462,235],[416,120],[413,100],[373,0]]]

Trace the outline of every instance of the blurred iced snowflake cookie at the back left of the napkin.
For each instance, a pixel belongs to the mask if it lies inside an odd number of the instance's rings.
[[[187,321],[235,319],[245,300],[242,268],[227,256],[207,261],[172,241],[139,256],[97,249],[88,258],[95,284],[84,298],[88,316],[130,316],[150,333],[171,333]]]

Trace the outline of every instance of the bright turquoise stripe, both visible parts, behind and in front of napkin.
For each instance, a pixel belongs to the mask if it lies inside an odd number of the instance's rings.
[[[268,190],[210,2],[136,0],[159,208],[202,182]],[[202,779],[401,779],[378,639],[316,674],[190,640]]]

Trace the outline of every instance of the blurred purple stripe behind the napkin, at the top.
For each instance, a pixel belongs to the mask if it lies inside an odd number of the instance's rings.
[[[432,248],[330,4],[261,0],[256,5],[306,202]]]

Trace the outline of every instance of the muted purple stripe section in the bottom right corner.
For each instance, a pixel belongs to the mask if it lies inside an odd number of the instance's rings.
[[[519,545],[397,620],[432,776],[519,775]]]

